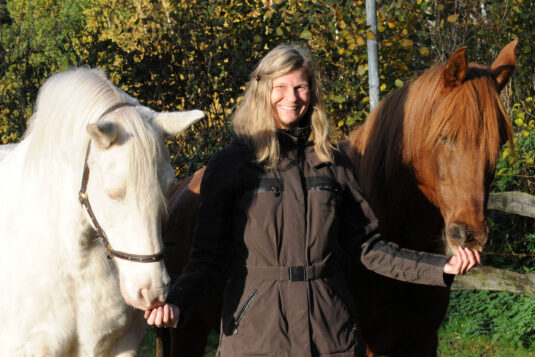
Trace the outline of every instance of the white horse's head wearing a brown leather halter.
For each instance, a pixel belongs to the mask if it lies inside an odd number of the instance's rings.
[[[201,119],[191,112],[156,113],[123,105],[87,125],[90,150],[87,196],[111,249],[150,256],[163,250],[161,220],[175,173],[163,136],[176,135]],[[93,225],[95,225],[93,223]],[[125,301],[149,309],[165,301],[169,276],[162,260],[114,258]]]

